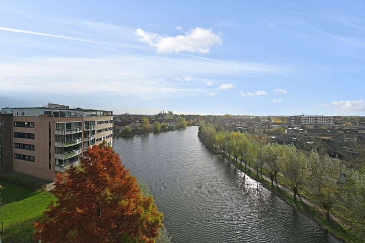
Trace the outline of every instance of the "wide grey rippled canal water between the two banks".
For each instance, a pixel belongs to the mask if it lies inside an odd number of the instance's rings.
[[[147,181],[172,242],[342,242],[213,154],[198,128],[114,138]]]

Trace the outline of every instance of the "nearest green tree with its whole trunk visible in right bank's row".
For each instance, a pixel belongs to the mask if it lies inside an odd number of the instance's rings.
[[[321,155],[314,150],[309,155],[309,191],[312,200],[325,212],[327,220],[330,220],[332,207],[340,192],[339,168],[338,158],[331,159],[327,154]]]

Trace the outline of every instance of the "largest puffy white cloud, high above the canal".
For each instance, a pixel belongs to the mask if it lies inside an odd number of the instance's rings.
[[[148,43],[150,47],[156,48],[158,53],[208,53],[211,46],[222,44],[220,35],[213,33],[211,29],[200,27],[175,37],[163,37],[140,28],[136,29],[134,34],[138,36],[138,41]]]

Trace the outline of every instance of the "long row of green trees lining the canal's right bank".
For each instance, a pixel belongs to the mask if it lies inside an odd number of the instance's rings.
[[[336,237],[365,242],[365,161],[353,158],[352,166],[344,167],[338,158],[319,151],[229,132],[207,120],[199,125],[199,138]]]

